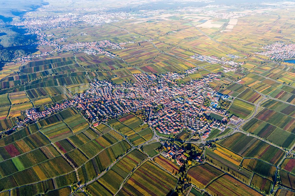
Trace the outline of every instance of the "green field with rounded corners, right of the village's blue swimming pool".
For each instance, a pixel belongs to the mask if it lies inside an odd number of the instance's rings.
[[[236,98],[228,111],[237,117],[245,119],[253,112],[254,108],[254,104]]]

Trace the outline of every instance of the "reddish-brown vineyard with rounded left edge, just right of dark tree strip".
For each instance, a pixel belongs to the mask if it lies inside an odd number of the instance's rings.
[[[211,181],[224,174],[222,171],[217,170],[208,164],[197,165],[191,167],[187,172],[187,177],[192,184],[196,185],[200,189],[204,189]]]

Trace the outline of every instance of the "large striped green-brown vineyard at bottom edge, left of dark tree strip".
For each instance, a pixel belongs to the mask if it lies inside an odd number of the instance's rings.
[[[177,179],[151,162],[140,166],[124,184],[118,195],[167,195]],[[159,186],[164,185],[164,186]]]

